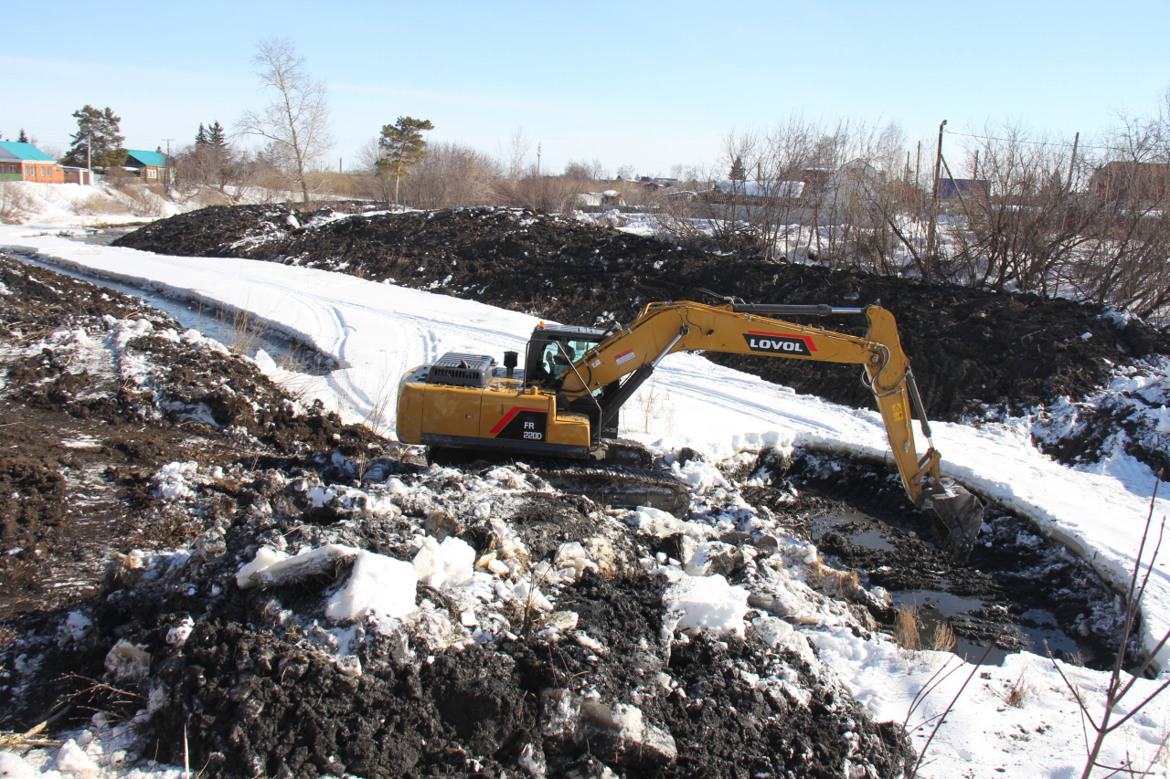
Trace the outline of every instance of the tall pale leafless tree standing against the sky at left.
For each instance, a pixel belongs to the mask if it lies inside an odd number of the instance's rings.
[[[325,85],[309,77],[304,57],[287,39],[262,41],[253,63],[271,102],[260,111],[246,111],[236,129],[269,142],[274,163],[309,202],[307,174],[333,145]]]

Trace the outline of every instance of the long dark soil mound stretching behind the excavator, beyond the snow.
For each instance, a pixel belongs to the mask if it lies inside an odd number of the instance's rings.
[[[153,222],[116,243],[338,270],[586,325],[628,323],[653,301],[702,299],[698,288],[758,303],[880,302],[897,318],[936,419],[983,406],[1021,408],[1060,395],[1081,398],[1106,379],[1110,364],[1170,353],[1170,339],[1156,330],[1119,324],[1099,306],[713,255],[570,219],[496,208],[340,218],[280,206],[220,206]],[[863,332],[856,317],[810,324]],[[872,405],[852,367],[710,357],[798,392]]]

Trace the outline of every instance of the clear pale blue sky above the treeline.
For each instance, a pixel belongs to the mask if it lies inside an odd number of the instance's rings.
[[[84,20],[95,18],[95,29]],[[909,140],[1018,120],[1090,135],[1170,87],[1170,2],[9,4],[0,132],[63,145],[85,103],[130,147],[190,143],[263,98],[259,41],[288,37],[326,83],[331,165],[399,116],[496,154],[516,127],[544,170],[598,159],[667,174],[729,131],[894,120]],[[117,30],[117,32],[111,32]],[[925,146],[925,144],[924,144]],[[535,150],[534,150],[535,161]]]

